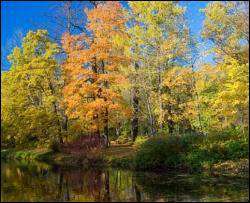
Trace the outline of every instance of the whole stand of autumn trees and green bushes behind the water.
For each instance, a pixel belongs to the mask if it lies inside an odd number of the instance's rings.
[[[90,1],[82,24],[64,4],[60,39],[29,31],[1,71],[2,149],[128,146],[113,164],[138,170],[248,163],[248,2],[200,11],[203,52],[178,2]]]

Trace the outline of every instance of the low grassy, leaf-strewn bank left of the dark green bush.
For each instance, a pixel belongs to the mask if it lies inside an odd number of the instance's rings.
[[[50,149],[3,149],[1,150],[1,159],[36,160],[65,167],[105,165],[132,169],[133,166],[129,164],[129,160],[133,159],[135,152],[136,147],[132,145],[112,145],[107,149],[93,151],[86,155],[53,152],[53,150]]]

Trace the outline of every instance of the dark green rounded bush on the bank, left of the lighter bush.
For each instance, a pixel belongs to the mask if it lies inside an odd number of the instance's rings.
[[[135,156],[137,169],[176,168],[182,165],[188,145],[179,136],[153,137],[144,142]]]

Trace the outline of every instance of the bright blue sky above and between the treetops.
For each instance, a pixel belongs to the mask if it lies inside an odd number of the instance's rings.
[[[17,45],[20,46],[21,38],[29,30],[43,29],[46,27],[49,33],[54,32],[54,25],[46,17],[53,12],[53,8],[60,5],[58,1],[1,1],[1,71],[8,70],[10,64],[6,56]],[[207,1],[180,1],[186,7],[186,17],[191,33],[201,41],[200,31],[204,20],[204,14],[199,10],[205,8]],[[122,2],[127,7],[127,2]],[[86,6],[88,2],[86,2]],[[212,56],[205,59],[212,61]]]

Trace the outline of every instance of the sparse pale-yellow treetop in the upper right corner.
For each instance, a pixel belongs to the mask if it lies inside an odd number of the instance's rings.
[[[249,44],[249,3],[212,2],[205,13],[202,36],[213,42],[218,60],[230,56],[246,62]]]

